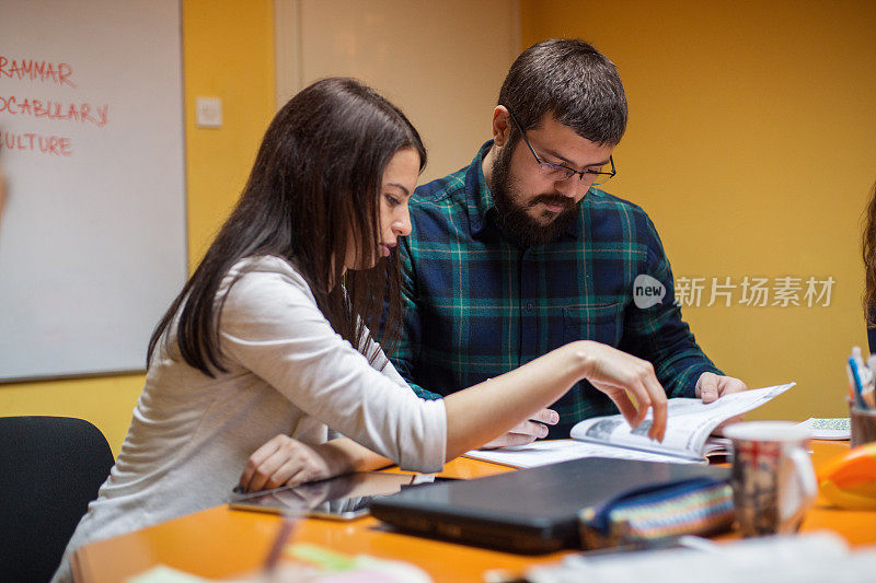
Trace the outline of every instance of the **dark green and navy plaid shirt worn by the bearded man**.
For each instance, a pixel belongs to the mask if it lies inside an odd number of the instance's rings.
[[[491,145],[411,199],[413,230],[399,245],[404,327],[392,361],[420,397],[440,398],[579,339],[649,360],[670,397],[692,397],[703,372],[722,374],[681,319],[669,261],[639,207],[591,188],[564,235],[521,249],[494,220],[481,170]],[[641,273],[666,288],[647,308],[633,301]],[[554,439],[616,412],[586,381],[552,408]]]

